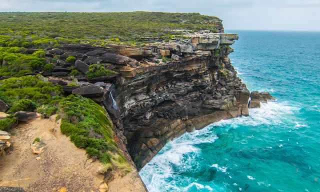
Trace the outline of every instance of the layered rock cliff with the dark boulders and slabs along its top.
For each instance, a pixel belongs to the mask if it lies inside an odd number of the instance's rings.
[[[218,31],[223,32],[222,25]],[[168,41],[146,39],[144,47],[64,45],[47,50],[62,60],[74,55],[78,59],[75,67],[82,73],[92,63],[117,72],[90,79],[82,74],[78,80],[89,84],[63,89],[104,105],[124,146],[121,149],[128,151],[137,169],[185,131],[248,115],[250,92],[228,58],[233,50],[229,45],[238,36],[189,32]]]

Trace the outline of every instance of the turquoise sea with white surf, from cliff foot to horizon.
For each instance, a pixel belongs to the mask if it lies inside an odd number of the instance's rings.
[[[139,172],[153,191],[320,191],[320,32],[228,31],[250,90],[277,100],[168,142]]]

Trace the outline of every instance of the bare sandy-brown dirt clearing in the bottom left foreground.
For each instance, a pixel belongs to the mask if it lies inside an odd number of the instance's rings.
[[[25,191],[98,191],[102,166],[74,146],[50,119],[36,118],[13,130],[13,150],[0,157],[0,186],[20,186]],[[39,137],[43,151],[33,154],[30,144]]]

